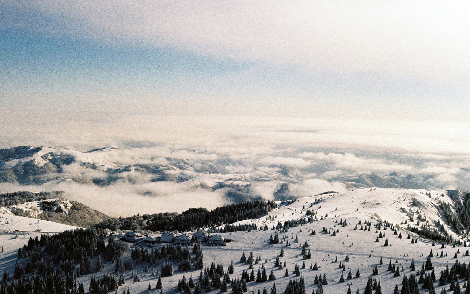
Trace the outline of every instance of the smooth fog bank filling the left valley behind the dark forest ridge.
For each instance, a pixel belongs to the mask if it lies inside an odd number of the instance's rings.
[[[191,207],[212,209],[233,203],[223,191],[189,189],[178,183],[130,185],[117,183],[100,187],[74,182],[43,185],[2,183],[1,192],[63,190],[67,199],[76,200],[110,216],[130,216],[157,212],[182,212]]]

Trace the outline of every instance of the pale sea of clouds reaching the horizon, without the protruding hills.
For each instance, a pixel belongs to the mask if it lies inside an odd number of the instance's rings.
[[[118,166],[165,164],[166,158],[173,158],[211,162],[237,175],[274,172],[288,175],[297,197],[345,191],[349,178],[392,172],[419,176],[440,189],[470,190],[468,122],[10,110],[3,111],[0,123],[1,148],[31,145],[88,151],[107,146],[118,150],[103,160]],[[107,176],[78,163],[64,167],[63,173]],[[149,175],[126,173],[124,180],[105,186],[73,181],[1,183],[0,192],[64,190],[71,199],[113,216],[233,202],[223,189],[151,182]],[[279,185],[279,181],[258,181],[250,192],[273,199]]]

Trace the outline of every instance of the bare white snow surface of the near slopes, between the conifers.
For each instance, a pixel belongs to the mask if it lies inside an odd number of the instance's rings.
[[[401,289],[401,281],[403,275],[407,276],[412,272],[409,268],[410,262],[414,259],[416,264],[416,270],[421,268],[421,265],[426,260],[426,257],[432,249],[435,255],[443,252],[444,257],[433,257],[433,265],[436,270],[436,276],[439,278],[440,270],[444,270],[446,265],[449,267],[457,260],[454,258],[456,252],[459,262],[470,262],[470,256],[462,256],[465,254],[467,248],[463,246],[456,246],[452,248],[451,245],[441,249],[440,245],[436,243],[436,246],[432,246],[431,242],[418,238],[418,242],[411,244],[411,239],[408,239],[408,232],[402,226],[399,229],[399,233],[402,234],[402,238],[399,235],[394,235],[390,229],[376,230],[374,225],[377,220],[383,220],[400,224],[401,222],[408,222],[412,225],[416,225],[417,217],[414,222],[409,221],[409,216],[403,211],[402,208],[406,208],[408,211],[413,212],[416,216],[421,214],[425,215],[426,218],[432,222],[440,220],[439,212],[436,209],[436,205],[439,201],[449,203],[453,205],[452,199],[446,195],[446,191],[434,190],[407,190],[407,189],[379,189],[379,188],[367,188],[367,189],[354,189],[353,191],[347,191],[343,193],[330,193],[323,194],[313,197],[307,197],[298,199],[298,201],[291,203],[290,205],[281,205],[279,208],[274,209],[269,215],[263,216],[256,220],[246,220],[239,223],[257,223],[258,228],[268,226],[267,231],[240,231],[232,233],[221,233],[220,235],[231,238],[233,242],[227,243],[224,247],[212,247],[204,246],[204,266],[210,266],[211,262],[219,263],[222,262],[224,269],[227,270],[228,265],[231,261],[235,265],[235,273],[230,275],[231,278],[237,278],[241,275],[243,269],[248,270],[248,264],[241,263],[240,257],[243,252],[248,256],[250,251],[253,251],[254,256],[261,255],[262,261],[267,259],[267,263],[264,264],[266,267],[267,274],[271,269],[274,270],[276,277],[275,284],[278,293],[283,293],[286,284],[291,278],[296,278],[293,274],[293,270],[296,264],[302,267],[305,262],[305,269],[301,269],[301,275],[305,278],[305,292],[307,294],[312,293],[317,285],[313,285],[315,275],[326,274],[328,285],[324,286],[325,294],[336,294],[346,293],[348,284],[352,284],[351,288],[353,293],[356,289],[360,289],[360,293],[363,293],[368,277],[372,274],[372,271],[376,264],[379,263],[380,258],[383,258],[383,265],[378,266],[378,276],[373,276],[377,281],[380,280],[383,293],[392,293],[395,284],[399,285]],[[414,204],[413,204],[414,202]],[[278,221],[283,223],[284,221],[299,219],[307,217],[306,211],[315,211],[318,221],[313,223],[307,223],[302,226],[290,228],[287,232],[279,232],[278,230],[272,230],[273,225]],[[326,217],[326,215],[328,216]],[[35,230],[40,228],[43,231],[60,231],[65,230],[70,226],[59,225],[49,223],[45,221],[39,221],[36,224],[33,219],[19,218],[11,215],[2,215],[1,228],[3,230]],[[6,220],[9,220],[8,225],[5,224]],[[347,226],[339,225],[340,221],[346,221]],[[359,222],[370,221],[372,224],[371,230],[354,230],[354,227]],[[338,230],[336,236],[332,234],[324,234],[321,232],[322,228],[326,227],[327,230],[333,231]],[[358,225],[360,228],[360,225]],[[447,227],[450,231],[450,228]],[[316,231],[316,235],[312,235],[312,231]],[[274,236],[274,233],[279,233],[281,243],[270,244],[269,237]],[[376,242],[376,238],[382,233],[385,235],[384,238],[380,238],[379,242]],[[452,233],[454,234],[454,233]],[[4,255],[10,257],[9,263],[11,269],[12,258],[16,254],[18,247],[27,241],[27,238],[34,236],[34,233],[28,233],[27,235],[19,234],[18,238],[13,239],[13,234],[1,235],[0,242],[8,244],[5,248]],[[416,238],[415,234],[410,234],[412,238]],[[454,234],[455,235],[455,234]],[[295,238],[298,238],[298,242],[295,242]],[[385,239],[388,238],[390,246],[384,246]],[[285,246],[286,241],[289,241],[290,246]],[[301,254],[301,247],[307,241],[309,249],[311,251],[312,258],[303,260]],[[158,245],[160,249],[162,245]],[[282,270],[274,267],[276,255],[284,250],[284,257],[281,257],[281,262],[286,262],[290,277],[284,277],[286,269]],[[9,254],[9,255],[8,255]],[[349,257],[349,261],[345,261],[346,256]],[[369,257],[370,256],[370,257]],[[125,258],[130,257],[130,250],[124,255]],[[337,262],[335,260],[337,259]],[[392,261],[395,266],[399,267],[400,270],[403,268],[403,272],[400,272],[400,277],[394,277],[393,273],[387,271],[389,262]],[[317,263],[319,270],[311,270],[310,265]],[[345,264],[346,270],[343,272],[338,268],[339,262]],[[3,259],[0,266],[3,267]],[[106,269],[98,274],[102,275],[105,271],[114,271],[114,264],[106,262]],[[175,264],[175,268],[176,268]],[[254,265],[255,274],[258,268],[261,267],[261,263]],[[6,267],[8,268],[8,266]],[[157,272],[159,267],[154,269]],[[340,283],[339,279],[341,273],[344,277],[347,277],[348,272],[352,271],[354,277],[357,270],[360,270],[360,278],[352,278],[351,280],[346,279],[344,283]],[[130,278],[130,272],[125,273],[125,285],[119,287],[118,293],[127,291],[130,293],[141,294],[149,293],[147,287],[150,283],[152,290],[150,293],[159,293],[159,290],[155,290],[158,276],[151,276],[152,269],[148,272],[143,272],[143,264],[134,266],[134,272],[139,274],[141,282],[133,283]],[[251,270],[250,270],[251,271]],[[249,272],[250,272],[249,271]],[[172,277],[162,278],[163,292],[164,293],[178,293],[177,285],[178,281],[186,275],[189,278],[191,275],[197,281],[199,276],[199,270],[191,270],[186,272],[178,272],[175,270],[175,275]],[[91,275],[86,275],[78,278],[78,282],[83,282],[86,289],[89,285],[89,279]],[[437,283],[435,284],[437,285]],[[262,291],[264,287],[270,291],[273,286],[273,282],[256,283],[249,282],[247,284],[248,290],[254,289],[257,293],[258,288]],[[447,285],[448,287],[448,285]],[[436,292],[440,292],[442,287],[436,286]],[[228,291],[231,291],[230,289]],[[427,293],[427,290],[421,290],[422,293]],[[203,291],[205,293],[205,291]],[[218,289],[212,290],[211,293],[219,293]]]

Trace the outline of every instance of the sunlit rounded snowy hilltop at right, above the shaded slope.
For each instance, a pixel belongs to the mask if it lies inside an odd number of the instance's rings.
[[[421,215],[431,226],[437,222],[442,223],[451,236],[458,238],[452,228],[445,224],[438,209],[439,203],[454,206],[454,201],[445,190],[359,188],[342,193],[300,198],[290,205],[281,205],[278,209],[271,211],[267,219],[245,220],[235,224],[254,222],[272,227],[278,221],[305,218],[306,211],[310,210],[315,211],[319,219],[325,215],[329,218],[375,218],[406,227],[405,222],[411,226],[417,226]],[[414,221],[410,221],[410,214],[414,215]]]

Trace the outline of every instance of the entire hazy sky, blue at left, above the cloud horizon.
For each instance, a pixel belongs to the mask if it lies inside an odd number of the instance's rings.
[[[0,108],[468,120],[468,11],[468,1],[3,0]]]

